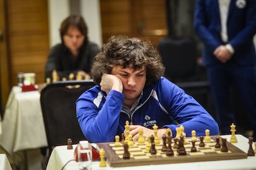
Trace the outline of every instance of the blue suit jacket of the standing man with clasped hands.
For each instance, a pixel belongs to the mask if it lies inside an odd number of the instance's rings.
[[[218,0],[198,0],[195,5],[194,28],[204,47],[203,65],[220,63],[213,51],[225,44],[221,40],[221,21]],[[254,65],[256,33],[256,0],[230,0],[228,10],[228,43],[234,48],[229,62],[238,65]]]

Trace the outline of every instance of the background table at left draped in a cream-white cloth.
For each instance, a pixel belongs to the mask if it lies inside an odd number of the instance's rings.
[[[22,92],[20,87],[12,87],[2,119],[0,145],[10,154],[27,151],[28,161],[41,160],[38,148],[46,147],[47,139],[41,113],[40,92]],[[30,163],[28,165],[30,166]]]

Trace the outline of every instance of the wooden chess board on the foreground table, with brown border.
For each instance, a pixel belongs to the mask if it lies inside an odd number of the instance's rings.
[[[139,166],[148,164],[171,164],[171,163],[186,163],[197,161],[218,161],[218,160],[234,160],[247,158],[247,153],[243,152],[233,144],[226,142],[228,152],[221,152],[221,148],[215,148],[215,137],[211,136],[211,141],[205,142],[205,147],[199,147],[199,139],[195,143],[197,152],[190,152],[192,147],[190,138],[187,138],[187,144],[184,144],[187,155],[179,155],[177,149],[173,148],[174,156],[166,156],[166,152],[162,152],[162,144],[156,145],[156,155],[146,152],[146,143],[129,146],[130,159],[124,160],[122,158],[124,148],[114,147],[114,142],[110,143],[98,143],[99,148],[105,150],[106,158],[109,166],[112,167],[124,167],[124,166]],[[220,137],[221,139],[221,137]],[[221,144],[221,140],[220,140]],[[174,143],[172,144],[172,146]]]

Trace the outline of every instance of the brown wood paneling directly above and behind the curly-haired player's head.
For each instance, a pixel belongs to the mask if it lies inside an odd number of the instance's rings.
[[[147,38],[157,46],[168,34],[165,0],[101,0],[103,42],[111,34]]]

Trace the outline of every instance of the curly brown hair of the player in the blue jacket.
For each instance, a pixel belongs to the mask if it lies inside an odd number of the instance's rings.
[[[91,74],[96,84],[100,84],[104,73],[111,73],[114,66],[147,71],[146,86],[155,83],[164,75],[164,66],[158,51],[149,40],[128,38],[124,35],[111,36],[96,55]]]

